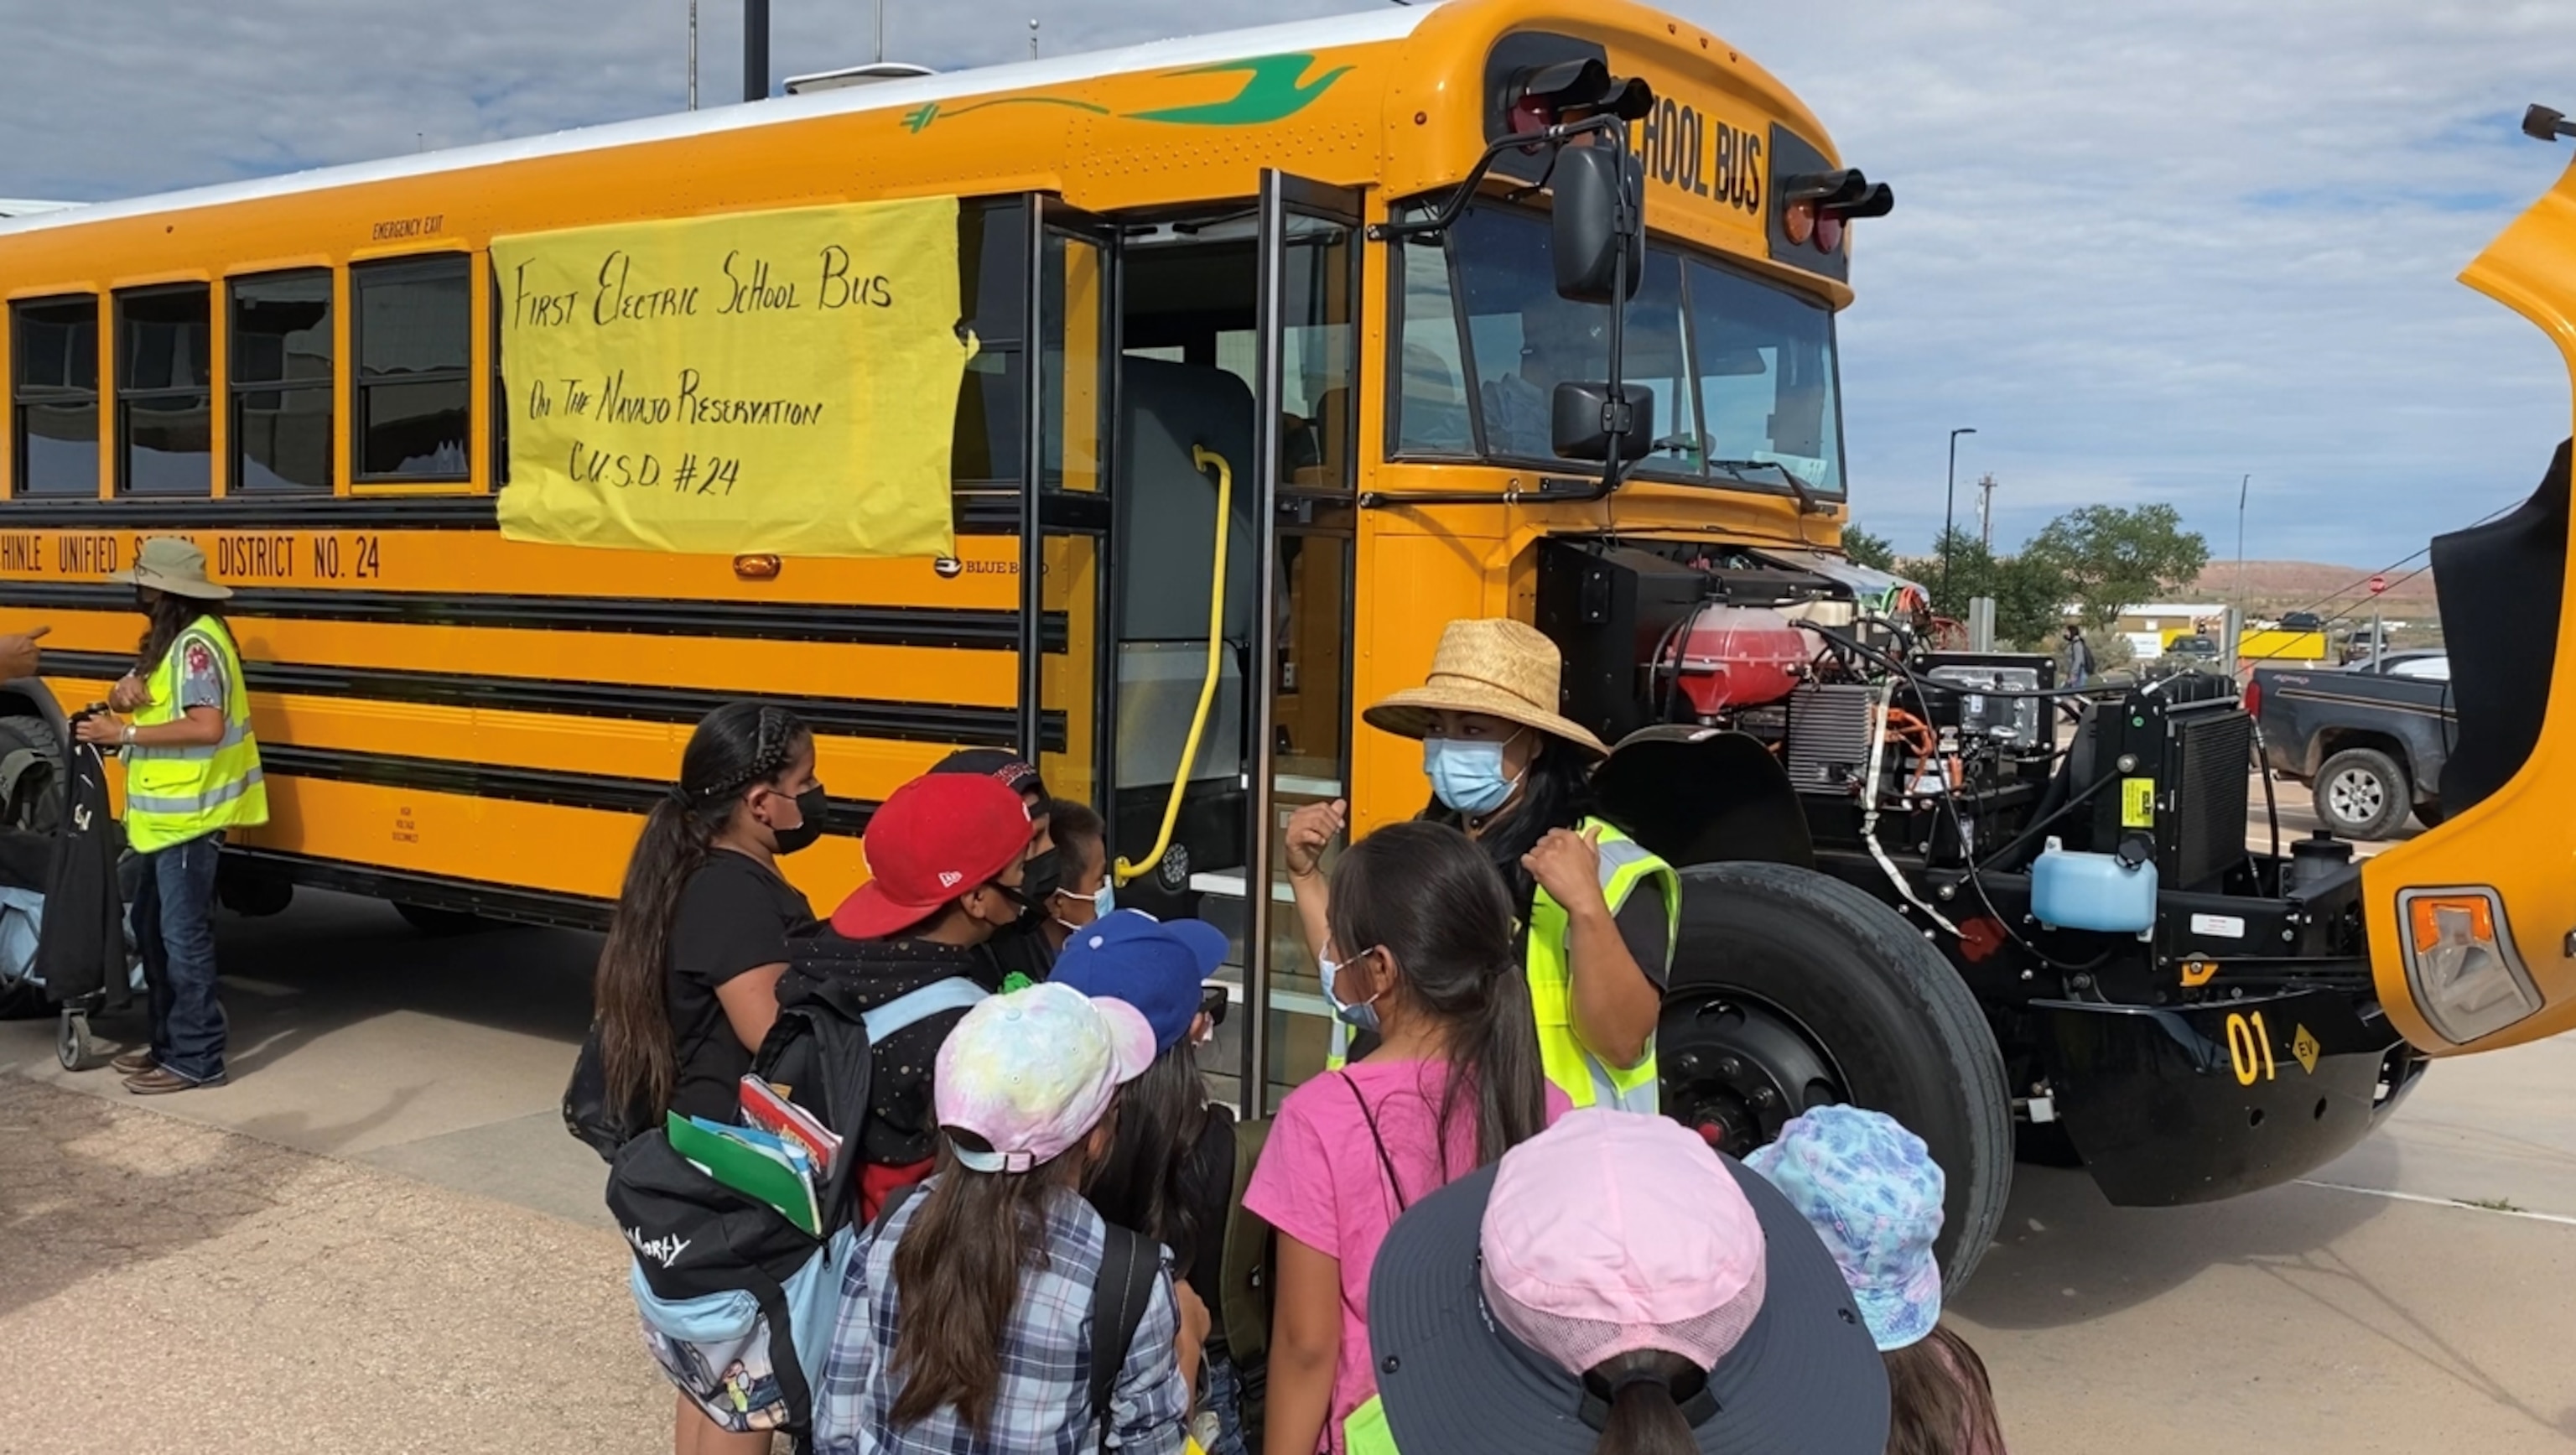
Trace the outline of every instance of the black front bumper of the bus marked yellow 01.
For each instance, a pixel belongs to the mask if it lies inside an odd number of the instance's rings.
[[[2056,1118],[2123,1208],[2215,1203],[2306,1177],[2370,1136],[2424,1071],[2375,1007],[2326,989],[2030,1009]]]

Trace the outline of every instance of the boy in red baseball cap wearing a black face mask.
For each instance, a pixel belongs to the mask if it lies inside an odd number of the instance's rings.
[[[914,778],[868,819],[868,883],[778,981],[778,1004],[863,1020],[876,1066],[860,1146],[860,1218],[930,1174],[930,1071],[966,1009],[1002,989],[989,940],[1028,909],[1028,806],[994,778]],[[848,1136],[848,1128],[835,1128]]]

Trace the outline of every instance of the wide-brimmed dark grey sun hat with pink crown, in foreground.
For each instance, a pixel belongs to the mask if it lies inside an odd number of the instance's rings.
[[[1762,1177],[1654,1115],[1589,1107],[1417,1203],[1368,1282],[1404,1455],[1587,1455],[1659,1349],[1703,1452],[1880,1455],[1888,1375],[1834,1257]]]

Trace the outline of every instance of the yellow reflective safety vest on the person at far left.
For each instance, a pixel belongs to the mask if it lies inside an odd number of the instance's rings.
[[[201,615],[162,652],[147,682],[152,700],[134,713],[134,726],[175,724],[180,664],[191,649],[214,654],[224,677],[224,739],[214,747],[126,749],[126,842],[134,852],[185,845],[219,829],[268,821],[268,785],[260,780],[260,744],[250,737],[250,690],[242,685],[242,654],[232,649],[224,623]]]

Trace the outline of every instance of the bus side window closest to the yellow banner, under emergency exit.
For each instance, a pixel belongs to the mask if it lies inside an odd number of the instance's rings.
[[[464,482],[474,438],[474,260],[464,252],[348,270],[358,355],[350,458],[361,482]]]

